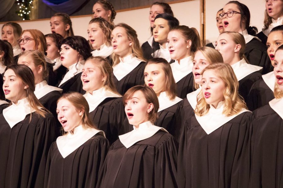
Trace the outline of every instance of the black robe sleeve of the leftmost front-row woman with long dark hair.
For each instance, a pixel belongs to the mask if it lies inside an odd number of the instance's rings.
[[[47,113],[45,118],[41,119],[43,121],[38,122],[34,138],[34,152],[29,177],[29,185],[31,187],[43,187],[48,151],[57,135],[53,115]],[[25,157],[23,160],[25,160]]]

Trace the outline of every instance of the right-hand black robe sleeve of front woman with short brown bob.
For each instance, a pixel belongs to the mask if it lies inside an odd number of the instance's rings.
[[[160,188],[177,187],[177,155],[175,138],[164,134],[158,141],[154,159],[154,185]]]

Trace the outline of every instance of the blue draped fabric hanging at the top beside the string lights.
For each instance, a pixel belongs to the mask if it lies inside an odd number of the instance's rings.
[[[58,13],[74,13],[86,0],[42,0],[48,7]]]

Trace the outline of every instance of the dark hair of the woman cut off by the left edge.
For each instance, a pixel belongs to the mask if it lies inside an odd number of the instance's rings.
[[[0,40],[0,53],[4,52],[2,61],[5,66],[13,65],[13,47],[7,40]]]

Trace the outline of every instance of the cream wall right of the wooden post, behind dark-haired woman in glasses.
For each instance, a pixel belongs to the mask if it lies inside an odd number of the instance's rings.
[[[238,0],[239,2],[247,5],[251,13],[251,26],[256,26],[258,32],[260,32],[264,26],[264,11],[265,11],[265,1],[264,0]],[[223,8],[228,0],[205,0],[206,5],[206,43],[215,41],[219,35],[218,29],[216,27],[216,13],[219,9]]]

